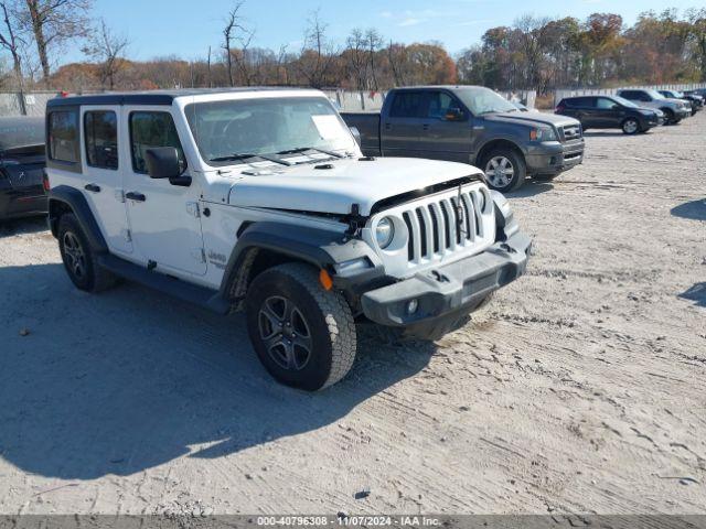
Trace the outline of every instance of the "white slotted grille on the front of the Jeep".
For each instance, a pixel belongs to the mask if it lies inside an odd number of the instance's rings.
[[[413,263],[475,246],[486,237],[482,210],[490,196],[480,188],[432,202],[411,203],[402,213],[407,225],[407,257]]]

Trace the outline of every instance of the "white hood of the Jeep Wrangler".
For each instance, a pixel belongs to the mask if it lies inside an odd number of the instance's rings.
[[[346,215],[357,204],[367,216],[375,203],[403,193],[457,180],[481,171],[472,165],[409,158],[378,158],[306,164],[281,172],[243,175],[231,187],[228,204]]]

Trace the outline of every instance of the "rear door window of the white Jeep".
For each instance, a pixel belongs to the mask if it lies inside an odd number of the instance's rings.
[[[92,168],[118,169],[118,118],[111,110],[84,114],[86,163]]]

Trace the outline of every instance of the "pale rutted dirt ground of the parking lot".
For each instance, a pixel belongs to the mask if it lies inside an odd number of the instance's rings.
[[[705,138],[589,131],[511,198],[526,277],[318,395],[243,316],[82,293],[42,222],[1,227],[0,512],[706,512]]]

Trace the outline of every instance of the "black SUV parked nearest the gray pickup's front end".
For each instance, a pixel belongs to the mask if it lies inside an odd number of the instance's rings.
[[[565,97],[555,112],[578,119],[584,130],[621,129],[625,134],[646,132],[663,122],[659,110],[639,107],[617,96]]]

